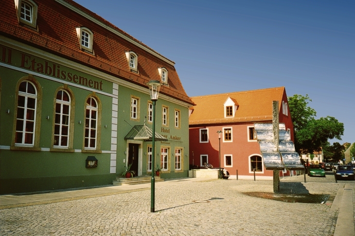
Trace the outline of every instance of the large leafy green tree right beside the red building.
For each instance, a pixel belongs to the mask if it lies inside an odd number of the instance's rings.
[[[295,149],[298,153],[313,153],[326,146],[328,139],[339,139],[344,134],[344,124],[331,116],[315,119],[316,112],[309,107],[308,95],[288,98],[292,123],[295,129]]]

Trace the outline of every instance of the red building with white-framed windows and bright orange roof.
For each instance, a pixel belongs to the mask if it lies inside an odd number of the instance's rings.
[[[293,141],[293,124],[285,87],[266,88],[226,94],[191,97],[196,104],[190,108],[190,166],[204,162],[221,168],[230,175],[252,179],[272,179],[273,171],[264,168],[254,123],[272,123],[272,102],[279,101],[279,122],[285,123]],[[217,131],[222,131],[219,141]]]

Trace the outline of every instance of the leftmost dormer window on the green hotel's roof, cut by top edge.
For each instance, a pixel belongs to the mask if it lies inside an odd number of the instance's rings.
[[[19,22],[37,28],[37,5],[31,0],[15,0]]]

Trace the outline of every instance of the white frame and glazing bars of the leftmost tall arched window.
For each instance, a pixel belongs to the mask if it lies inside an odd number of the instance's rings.
[[[23,108],[24,109],[24,116],[23,118],[18,118],[19,116],[19,105],[16,106],[16,109],[17,109],[17,117],[16,117],[16,128],[15,128],[15,132],[16,132],[16,136],[15,136],[15,146],[22,146],[22,147],[33,147],[34,146],[34,139],[35,139],[35,134],[36,134],[36,121],[37,121],[37,98],[38,98],[38,91],[37,91],[37,88],[36,86],[28,81],[28,80],[24,80],[20,83],[20,85],[24,82],[27,82],[26,84],[26,92],[21,92],[20,91],[20,88],[19,88],[19,93],[17,94],[17,101],[19,101],[19,98],[20,96],[21,97],[24,97],[25,98],[25,103],[24,103],[24,107],[21,107],[20,108]],[[28,84],[31,84],[34,88],[34,91],[35,91],[35,94],[30,94],[30,93],[27,93],[28,91]],[[19,86],[20,86],[19,85]],[[34,99],[34,108],[29,108],[27,107],[27,102],[28,102],[28,99]],[[18,102],[17,102],[18,104]],[[27,110],[32,110],[33,111],[33,120],[29,120],[27,119]],[[23,121],[23,124],[22,124],[22,130],[17,130],[17,121]],[[26,124],[27,124],[27,121],[28,122],[33,122],[33,131],[32,132],[26,132]],[[16,142],[16,137],[17,137],[17,133],[22,133],[22,141],[21,142]],[[26,140],[26,134],[32,134],[32,143],[26,143],[25,140]]]

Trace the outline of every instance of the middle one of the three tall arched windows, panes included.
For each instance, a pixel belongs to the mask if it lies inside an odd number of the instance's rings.
[[[56,97],[54,143],[56,148],[67,148],[69,142],[70,96],[59,90]]]

